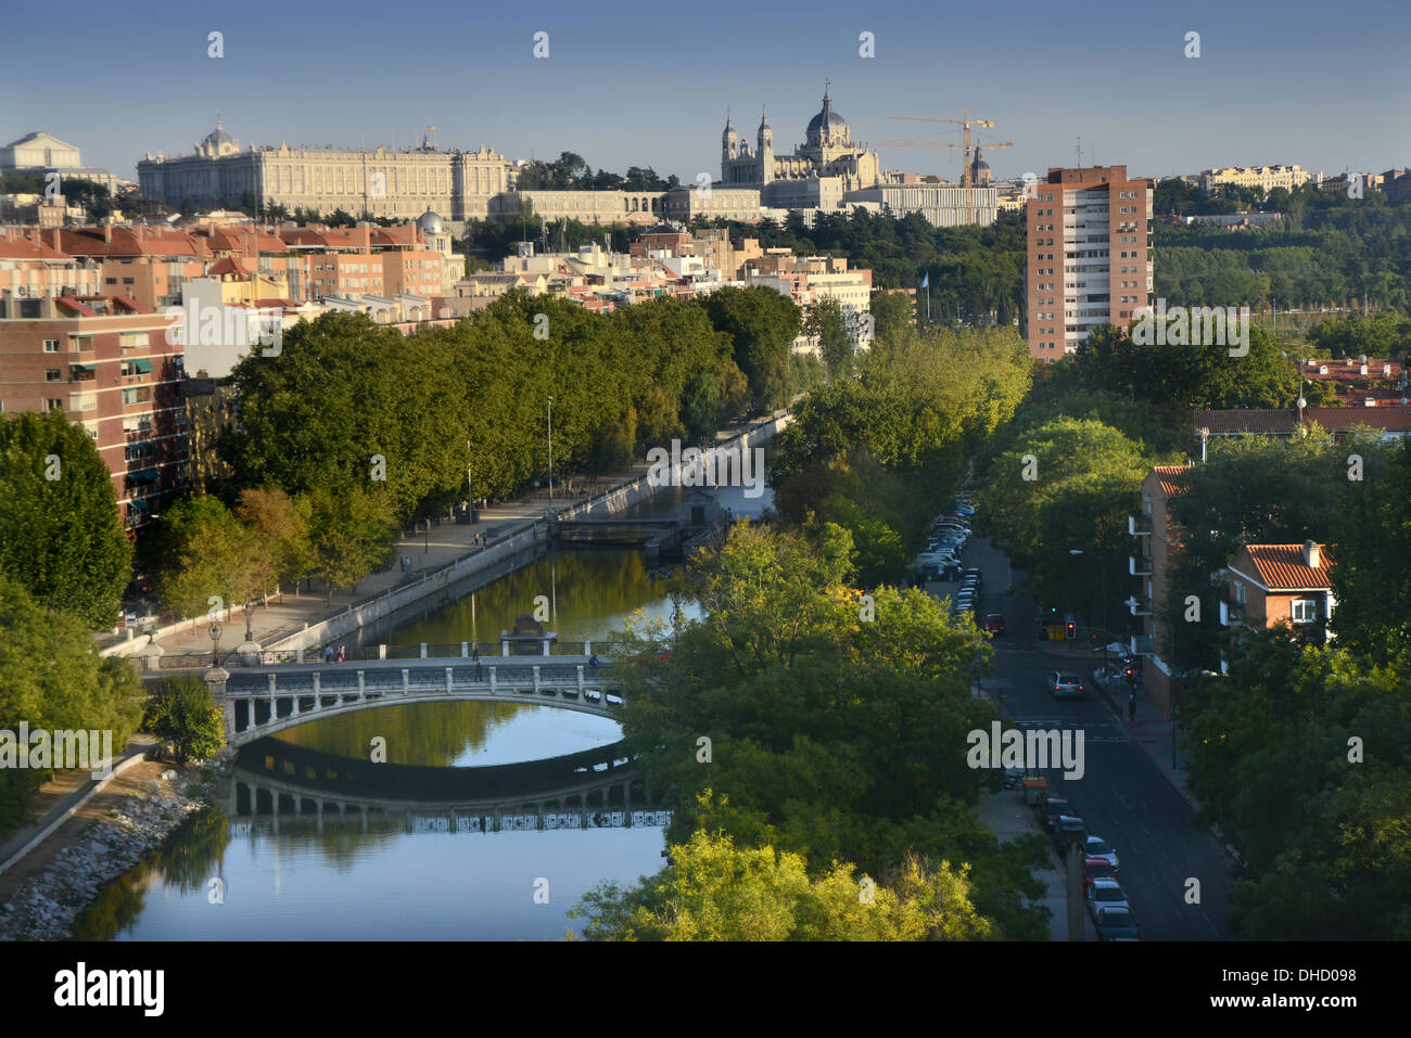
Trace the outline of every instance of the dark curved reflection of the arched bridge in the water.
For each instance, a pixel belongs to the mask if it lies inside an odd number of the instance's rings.
[[[665,826],[622,743],[485,767],[377,764],[279,739],[236,757],[230,835]]]

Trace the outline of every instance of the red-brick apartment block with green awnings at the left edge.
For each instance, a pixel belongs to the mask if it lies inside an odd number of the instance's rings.
[[[0,300],[0,410],[62,410],[80,423],[130,529],[189,480],[183,355],[171,326],[120,296]]]

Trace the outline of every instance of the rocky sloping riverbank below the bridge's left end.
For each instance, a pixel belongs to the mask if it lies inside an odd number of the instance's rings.
[[[207,774],[165,770],[85,825],[48,867],[0,904],[0,939],[65,941],[73,921],[114,879],[161,846],[168,834],[205,804]]]

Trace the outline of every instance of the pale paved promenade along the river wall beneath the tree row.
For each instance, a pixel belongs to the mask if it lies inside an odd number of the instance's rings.
[[[729,426],[728,429],[722,429],[720,436],[734,436],[768,420],[769,419],[766,417]],[[593,494],[601,494],[617,489],[624,484],[635,482],[646,475],[648,470],[649,465],[645,460],[642,460],[622,472],[598,477],[594,481]],[[581,478],[577,481],[581,482]],[[494,505],[480,511],[478,522],[476,523],[461,526],[453,520],[442,519],[440,525],[432,526],[429,533],[399,539],[394,549],[394,563],[391,568],[382,573],[368,574],[358,581],[354,588],[336,591],[332,601],[326,601],[326,594],[323,591],[303,592],[299,595],[285,592],[278,598],[271,599],[268,605],[257,605],[250,613],[251,637],[260,645],[265,645],[272,640],[271,635],[278,635],[281,637],[292,635],[305,625],[312,626],[329,616],[336,616],[349,605],[361,602],[367,598],[374,598],[385,591],[395,590],[411,580],[419,578],[428,570],[437,570],[444,566],[450,566],[457,558],[470,554],[474,550],[473,542],[477,533],[488,535],[498,527],[515,526],[542,518],[550,508],[564,509],[586,501],[586,498],[580,498],[577,495],[562,496],[562,491],[563,488],[555,482],[553,502],[549,501],[546,491],[540,491],[511,501],[495,502]],[[404,556],[411,558],[409,571],[404,571],[401,567],[401,558]],[[236,649],[236,646],[244,642],[246,618],[238,609],[230,609],[227,618],[220,621],[220,625],[223,628],[220,649],[223,653],[230,653]],[[145,636],[138,636],[134,642],[138,645],[147,645]],[[198,618],[195,623],[188,621],[179,630],[166,633],[157,639],[157,645],[161,646],[165,654],[179,656],[190,653],[209,653],[212,649],[210,623],[205,616]]]

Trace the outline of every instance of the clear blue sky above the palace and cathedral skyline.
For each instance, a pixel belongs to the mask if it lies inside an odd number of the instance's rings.
[[[17,4],[6,14],[0,142],[47,130],[135,179],[189,154],[219,113],[247,144],[487,144],[574,151],[594,169],[720,175],[725,107],[753,147],[801,142],[823,80],[854,141],[958,140],[890,114],[991,118],[998,178],[1127,164],[1168,176],[1298,162],[1411,165],[1411,0],[880,4],[247,0]],[[224,56],[207,56],[207,34]],[[536,59],[533,34],[549,34]],[[875,56],[859,56],[872,32]],[[1199,58],[1185,34],[1199,32]],[[882,148],[954,179],[958,149]]]

